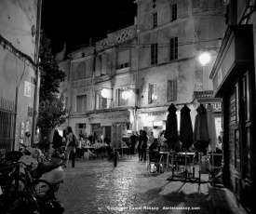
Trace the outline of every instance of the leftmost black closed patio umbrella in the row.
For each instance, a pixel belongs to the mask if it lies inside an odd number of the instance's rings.
[[[178,140],[178,125],[177,125],[177,108],[170,104],[168,107],[167,127],[165,132],[165,138],[168,140],[168,148],[174,149],[174,146]]]

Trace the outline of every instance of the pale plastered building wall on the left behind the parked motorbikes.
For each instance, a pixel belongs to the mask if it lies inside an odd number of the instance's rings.
[[[25,133],[32,133],[38,108],[36,29],[41,1],[3,0],[0,11],[0,149],[6,154],[17,150],[19,142],[30,143]]]

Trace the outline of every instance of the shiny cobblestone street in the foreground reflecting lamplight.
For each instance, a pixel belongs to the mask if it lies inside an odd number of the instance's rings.
[[[210,213],[208,183],[167,181],[170,170],[150,174],[137,155],[118,161],[117,167],[101,158],[76,161],[75,167],[70,162],[65,173],[56,196],[66,214]]]

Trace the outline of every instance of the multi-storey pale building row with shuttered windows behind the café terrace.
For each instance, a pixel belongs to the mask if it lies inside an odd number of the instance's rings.
[[[166,128],[168,106],[191,109],[193,125],[199,103],[216,106],[221,128],[221,102],[213,99],[209,73],[202,66],[205,48],[221,46],[224,31],[222,1],[139,0],[134,25],[109,33],[95,46],[74,51],[63,86],[72,114],[66,124],[88,134],[115,136],[133,130]],[[216,52],[212,51],[212,59]],[[61,65],[61,66],[62,66]],[[101,96],[104,89],[106,98]],[[178,126],[179,127],[179,126]],[[112,139],[114,140],[114,139]],[[118,141],[118,140],[117,140]]]

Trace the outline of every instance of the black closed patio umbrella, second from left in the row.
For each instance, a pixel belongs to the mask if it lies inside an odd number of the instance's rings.
[[[181,109],[180,140],[185,151],[193,144],[193,127],[190,112],[191,110],[184,104]]]

